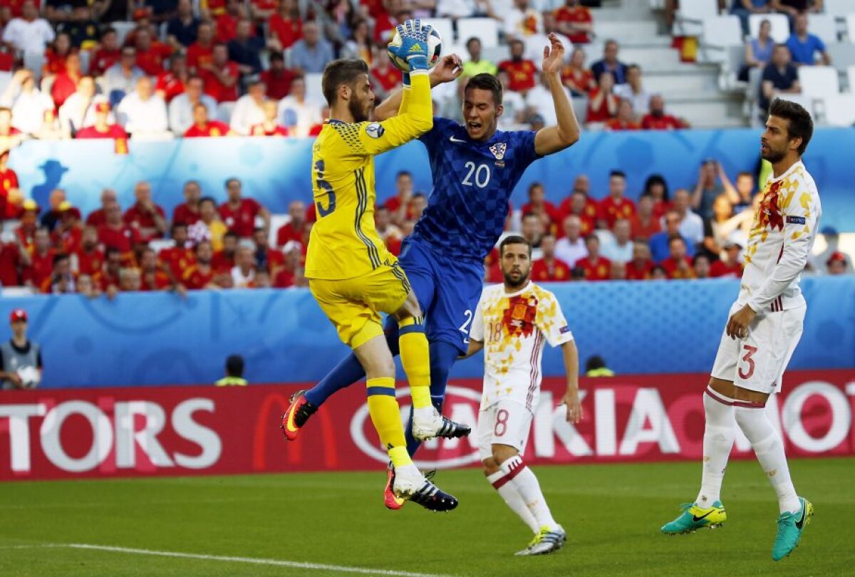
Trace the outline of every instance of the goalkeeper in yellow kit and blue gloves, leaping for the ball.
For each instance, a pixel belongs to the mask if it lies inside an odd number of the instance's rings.
[[[369,122],[374,92],[369,68],[361,60],[336,60],[324,69],[322,88],[330,107],[312,148],[312,181],[317,221],[306,256],[306,278],[339,338],[363,365],[371,421],[389,452],[392,491],[427,509],[451,510],[457,499],[440,491],[410,460],[404,441],[395,364],[386,344],[380,312],[394,315],[400,326],[400,355],[410,381],[413,436],[430,439],[445,418],[430,399],[430,362],[422,310],[398,260],[374,228],[374,155],[418,138],[433,127],[428,79],[428,32],[419,21],[398,26],[402,42],[390,47],[410,64],[410,86],[398,115]],[[286,436],[304,403],[297,399],[283,416]],[[296,429],[295,429],[296,430]]]

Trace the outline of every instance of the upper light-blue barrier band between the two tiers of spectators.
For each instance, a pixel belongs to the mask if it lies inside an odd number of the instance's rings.
[[[852,155],[855,129],[817,130],[805,163],[823,197],[823,226],[855,232],[855,186]],[[525,190],[535,180],[545,182],[553,201],[569,193],[575,174],[591,177],[594,197],[608,191],[608,174],[622,168],[628,174],[628,195],[637,197],[648,175],[664,174],[672,190],[692,186],[700,162],[717,158],[733,178],[741,170],[755,171],[759,156],[757,130],[675,132],[592,132],[561,154],[535,162],[514,193],[516,206],[525,202]],[[310,195],[311,141],[289,138],[189,138],[168,143],[130,143],[130,154],[116,155],[112,141],[29,141],[12,152],[10,166],[21,188],[41,206],[50,191],[65,188],[84,213],[98,207],[104,187],[119,192],[123,206],[133,203],[133,184],[150,180],[157,203],[172,214],[183,202],[181,185],[200,180],[203,191],[225,198],[224,181],[238,176],[245,193],[269,209],[285,213],[295,198]],[[414,176],[416,189],[429,191],[431,174],[422,144],[410,143],[377,158],[380,200],[394,193],[395,174],[402,168]]]

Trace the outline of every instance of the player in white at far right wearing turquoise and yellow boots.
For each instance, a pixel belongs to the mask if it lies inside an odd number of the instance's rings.
[[[771,162],[772,177],[754,215],[740,296],[730,309],[704,394],[700,492],[662,527],[663,533],[687,533],[727,519],[720,492],[738,425],[778,495],[775,561],[799,544],[813,515],[813,505],[796,494],[784,445],[765,411],[769,395],[781,390],[781,377],[805,320],[799,279],[822,214],[817,185],[801,162],[812,134],[811,115],[799,104],[781,99],[772,103],[760,138],[760,155]]]

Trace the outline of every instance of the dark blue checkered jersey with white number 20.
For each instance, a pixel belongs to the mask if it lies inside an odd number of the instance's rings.
[[[428,148],[433,191],[413,237],[446,256],[483,261],[504,231],[510,193],[539,158],[534,132],[497,131],[479,142],[456,121],[434,117],[419,140]]]

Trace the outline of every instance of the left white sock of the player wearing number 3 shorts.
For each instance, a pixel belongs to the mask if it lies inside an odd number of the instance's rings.
[[[728,466],[730,450],[734,446],[733,400],[707,389],[704,392],[704,471],[701,474],[700,492],[695,504],[708,508],[721,501],[724,469]]]

